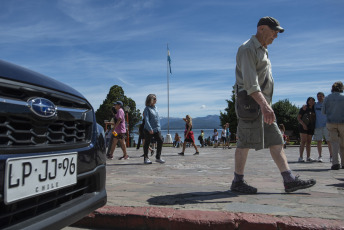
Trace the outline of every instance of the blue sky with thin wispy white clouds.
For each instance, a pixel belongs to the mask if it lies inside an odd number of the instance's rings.
[[[238,47],[272,16],[285,28],[268,47],[273,102],[300,106],[344,80],[344,1],[2,0],[1,59],[79,90],[93,107],[113,85],[144,109],[149,93],[167,116],[202,117],[227,106]]]

